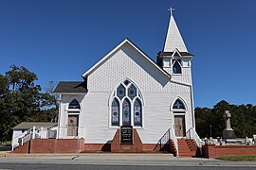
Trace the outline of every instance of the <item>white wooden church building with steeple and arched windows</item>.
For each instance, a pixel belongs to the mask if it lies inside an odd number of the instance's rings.
[[[192,58],[172,14],[156,62],[125,39],[85,71],[82,81],[59,82],[54,91],[61,101],[57,138],[83,138],[85,151],[111,151],[119,129],[132,127],[142,152],[161,150],[169,140],[174,152],[184,139],[199,146]],[[123,144],[121,150],[130,148]]]

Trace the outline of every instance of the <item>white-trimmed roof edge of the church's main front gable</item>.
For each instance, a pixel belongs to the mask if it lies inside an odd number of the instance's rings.
[[[140,53],[145,59],[148,59],[153,65],[155,65],[156,69],[162,72],[165,76],[171,77],[167,72],[165,72],[161,67],[159,67],[154,60],[150,59],[142,50],[140,50],[133,42],[128,39],[120,42],[117,47],[111,50],[106,56],[104,56],[101,60],[99,60],[96,64],[94,64],[89,70],[87,70],[82,76],[86,77],[91,74],[95,69],[97,69],[104,61],[106,61],[113,53],[115,53],[119,48],[125,43],[129,43],[132,47],[134,47],[138,53]]]

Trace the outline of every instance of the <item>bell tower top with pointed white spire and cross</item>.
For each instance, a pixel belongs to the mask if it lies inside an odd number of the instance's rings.
[[[173,80],[192,84],[191,66],[193,55],[188,52],[185,42],[174,20],[174,8],[171,11],[169,26],[163,51],[157,54],[157,64],[172,76]]]

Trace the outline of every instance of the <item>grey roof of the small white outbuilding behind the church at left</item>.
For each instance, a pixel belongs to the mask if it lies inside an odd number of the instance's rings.
[[[56,127],[58,124],[57,123],[51,123],[51,122],[22,122],[19,125],[17,125],[16,127],[13,127],[13,129],[29,129],[32,127]]]

